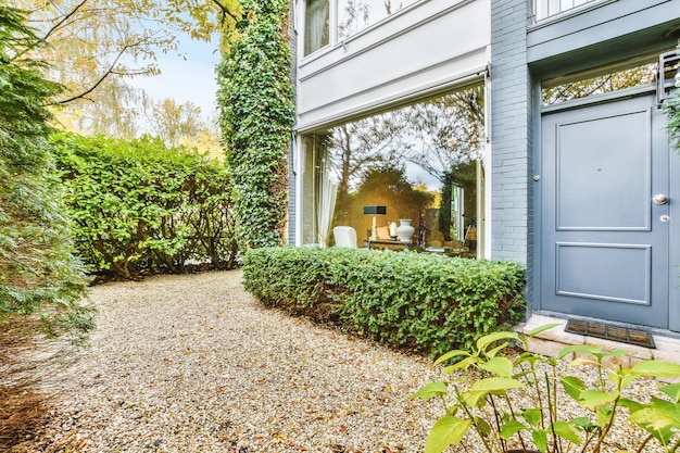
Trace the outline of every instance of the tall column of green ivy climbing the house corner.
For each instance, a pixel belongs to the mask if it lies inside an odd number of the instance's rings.
[[[288,150],[294,122],[286,0],[248,0],[223,58],[218,104],[242,248],[286,236]]]

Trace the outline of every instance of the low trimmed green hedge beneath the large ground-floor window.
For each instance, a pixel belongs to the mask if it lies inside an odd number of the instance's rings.
[[[362,249],[262,248],[243,256],[244,286],[267,306],[337,322],[426,353],[468,347],[525,313],[516,263]]]

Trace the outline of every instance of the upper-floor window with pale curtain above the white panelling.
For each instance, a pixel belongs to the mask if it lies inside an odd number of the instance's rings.
[[[342,41],[418,0],[306,0],[304,54]]]

